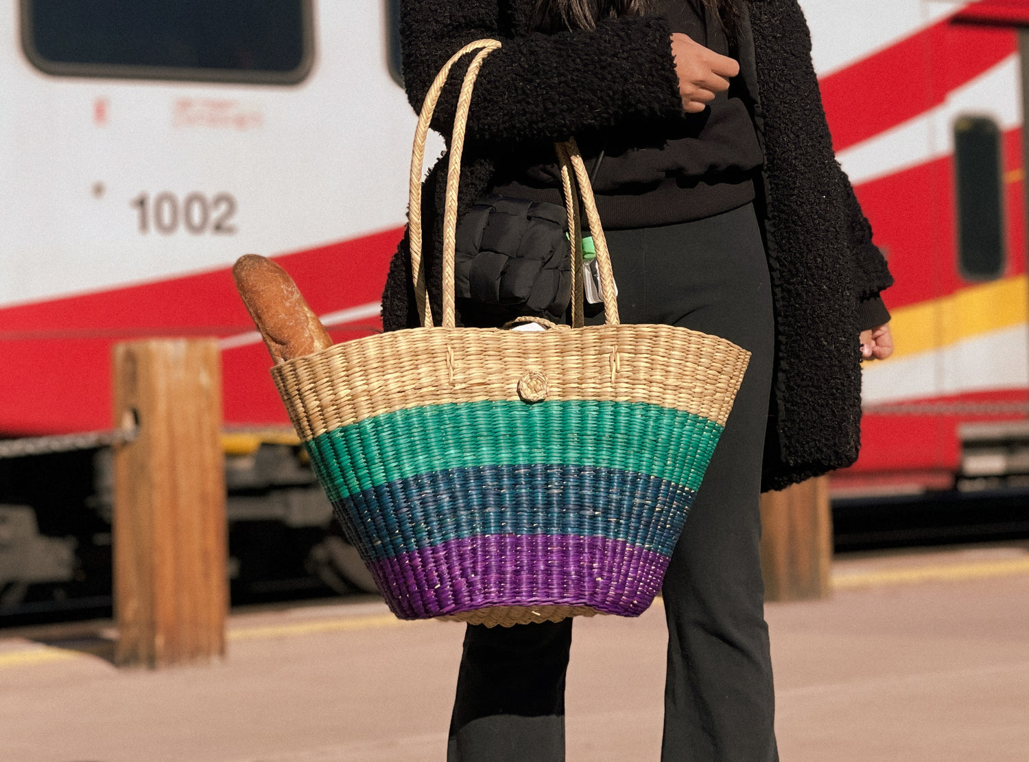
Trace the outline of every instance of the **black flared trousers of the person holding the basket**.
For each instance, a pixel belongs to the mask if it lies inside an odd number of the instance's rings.
[[[772,663],[758,556],[774,326],[753,207],[695,222],[612,231],[607,239],[623,322],[682,325],[752,352],[665,576],[662,760],[774,762]],[[571,619],[506,629],[468,626],[449,760],[564,759],[571,631]]]

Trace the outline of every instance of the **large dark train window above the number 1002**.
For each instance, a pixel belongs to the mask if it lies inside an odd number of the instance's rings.
[[[311,0],[22,0],[22,45],[48,74],[294,84]]]

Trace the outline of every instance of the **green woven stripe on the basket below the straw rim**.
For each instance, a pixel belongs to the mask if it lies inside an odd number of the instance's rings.
[[[696,490],[721,430],[647,403],[486,400],[365,418],[307,448],[331,500],[433,471],[518,463],[620,469]]]

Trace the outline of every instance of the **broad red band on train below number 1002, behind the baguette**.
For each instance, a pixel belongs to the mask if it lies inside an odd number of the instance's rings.
[[[319,314],[378,302],[402,231],[276,257]],[[379,328],[377,319],[331,332],[335,341]],[[110,352],[144,337],[230,336],[253,324],[228,268],[0,309],[6,358],[0,431],[57,434],[110,425]],[[223,352],[224,415],[230,423],[285,422],[257,343]]]

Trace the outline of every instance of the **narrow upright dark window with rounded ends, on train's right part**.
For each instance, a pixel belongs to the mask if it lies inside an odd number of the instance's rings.
[[[1004,226],[997,123],[960,116],[954,123],[954,165],[961,274],[969,280],[998,278],[1004,272]]]

